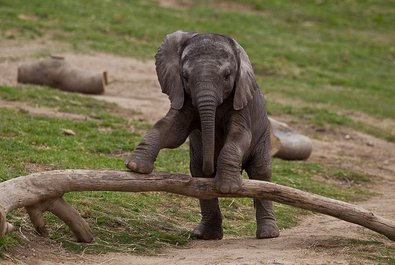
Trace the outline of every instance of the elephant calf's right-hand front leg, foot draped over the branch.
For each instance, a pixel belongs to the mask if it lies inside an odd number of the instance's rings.
[[[242,163],[251,143],[251,132],[244,126],[234,126],[227,135],[217,162],[215,185],[222,193],[241,188]]]

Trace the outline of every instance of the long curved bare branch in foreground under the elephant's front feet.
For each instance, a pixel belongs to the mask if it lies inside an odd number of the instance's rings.
[[[251,197],[327,214],[359,224],[395,241],[395,222],[356,205],[311,194],[271,182],[244,180],[242,188],[224,194],[215,189],[213,179],[192,178],[178,173],[156,172],[148,175],[116,170],[54,170],[34,173],[0,183],[0,237],[12,225],[6,214],[25,207],[37,232],[45,235],[44,211],[63,220],[82,242],[93,240],[89,225],[63,200],[66,192],[165,191],[195,198]]]

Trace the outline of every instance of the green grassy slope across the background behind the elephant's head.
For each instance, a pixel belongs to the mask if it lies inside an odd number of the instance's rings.
[[[395,118],[394,1],[235,2],[256,12],[215,1],[174,10],[155,1],[2,0],[0,34],[143,59],[178,29],[228,34],[250,54],[265,92]]]

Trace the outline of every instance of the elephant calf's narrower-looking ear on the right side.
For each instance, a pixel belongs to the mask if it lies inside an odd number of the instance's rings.
[[[247,106],[248,102],[252,99],[252,92],[257,88],[255,80],[254,70],[247,53],[243,47],[240,46],[236,41],[236,50],[238,55],[238,75],[236,77],[235,84],[235,96],[233,99],[233,108],[235,110],[241,110]]]

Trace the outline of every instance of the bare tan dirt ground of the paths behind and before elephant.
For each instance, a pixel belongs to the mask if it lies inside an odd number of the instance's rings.
[[[137,113],[135,118],[151,123],[168,110],[169,101],[160,91],[153,60],[142,62],[103,53],[77,54],[69,50],[67,46],[48,41],[29,44],[29,47],[13,42],[0,43],[0,85],[16,85],[16,69],[20,63],[55,52],[82,68],[108,71],[109,86],[104,95],[95,98],[133,109]],[[268,100],[279,99],[268,95]],[[0,106],[22,108],[39,115],[84,118],[21,103],[0,101]],[[286,116],[276,118],[289,121]],[[383,127],[392,125],[392,121],[382,124]],[[306,135],[317,135],[309,125],[294,126]],[[378,179],[373,187],[378,195],[360,206],[395,220],[395,144],[345,129],[319,132],[318,138],[320,140],[313,140],[310,160],[350,168]],[[334,238],[379,240],[394,246],[393,242],[365,228],[312,214],[298,226],[281,231],[281,236],[276,239],[225,236],[220,241],[193,241],[184,248],[164,249],[157,256],[77,255],[66,252],[49,239],[28,233],[26,243],[10,250],[0,264],[375,264],[350,255],[352,247],[336,246]]]

